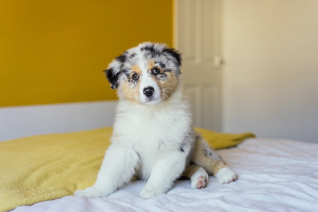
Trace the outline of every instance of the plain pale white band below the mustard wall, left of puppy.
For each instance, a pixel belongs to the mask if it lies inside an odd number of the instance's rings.
[[[0,141],[113,125],[117,101],[0,108]]]

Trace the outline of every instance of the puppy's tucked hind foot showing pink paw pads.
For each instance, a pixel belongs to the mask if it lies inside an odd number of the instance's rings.
[[[191,180],[192,188],[204,188],[208,184],[209,175],[204,168],[193,163],[189,165],[184,171],[182,176]]]

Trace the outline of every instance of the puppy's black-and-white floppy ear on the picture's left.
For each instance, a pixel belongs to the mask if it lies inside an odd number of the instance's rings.
[[[124,54],[116,57],[107,67],[106,70],[104,70],[104,74],[106,78],[108,79],[108,82],[110,83],[111,89],[116,89],[119,85],[118,79],[121,75],[122,71],[121,68],[123,66],[123,63],[126,60],[126,56]]]

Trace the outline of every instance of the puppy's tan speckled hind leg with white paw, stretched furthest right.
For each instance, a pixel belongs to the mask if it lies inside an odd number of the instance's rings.
[[[215,150],[208,147],[207,142],[198,133],[190,161],[204,168],[208,174],[213,174],[218,183],[229,183],[237,179],[235,172]]]

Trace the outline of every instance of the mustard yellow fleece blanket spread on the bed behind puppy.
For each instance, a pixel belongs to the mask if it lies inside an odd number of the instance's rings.
[[[254,137],[196,129],[211,147]],[[38,135],[0,142],[0,211],[73,195],[96,180],[112,128]]]

